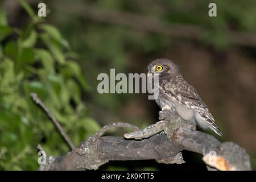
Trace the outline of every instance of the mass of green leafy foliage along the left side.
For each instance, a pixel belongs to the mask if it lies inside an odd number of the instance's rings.
[[[35,92],[78,145],[100,126],[86,115],[81,90],[90,86],[59,30],[34,14],[22,30],[7,24],[0,10],[0,169],[37,169],[42,144],[49,155],[63,155],[67,144],[30,97]]]

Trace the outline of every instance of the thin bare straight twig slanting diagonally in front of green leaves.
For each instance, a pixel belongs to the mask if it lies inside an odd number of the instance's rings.
[[[65,139],[65,141],[68,143],[68,146],[73,150],[75,148],[73,142],[68,137],[68,135],[63,130],[63,127],[61,127],[60,123],[57,121],[57,119],[54,117],[52,112],[44,105],[44,103],[40,100],[38,95],[36,93],[31,93],[30,96],[33,98],[36,104],[42,107],[42,109],[47,113],[48,117],[52,120],[54,125],[57,127],[57,129],[60,131],[61,136]]]

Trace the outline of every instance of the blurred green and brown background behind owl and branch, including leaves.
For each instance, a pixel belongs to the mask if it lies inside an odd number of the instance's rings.
[[[158,121],[147,94],[99,94],[97,75],[143,73],[156,58],[173,60],[208,105],[221,141],[244,147],[256,169],[256,1],[0,1],[0,169],[38,169],[69,147],[35,92],[78,146],[112,122],[141,128]],[[217,17],[208,16],[215,2]],[[120,129],[109,135],[123,135]],[[110,162],[100,169],[206,170],[201,155],[185,164]]]

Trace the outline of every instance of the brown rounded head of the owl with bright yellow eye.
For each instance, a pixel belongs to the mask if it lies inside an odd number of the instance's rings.
[[[156,59],[147,66],[148,73],[179,73],[177,65],[168,59]]]

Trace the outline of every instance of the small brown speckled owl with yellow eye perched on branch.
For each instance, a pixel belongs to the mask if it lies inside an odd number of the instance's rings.
[[[156,59],[148,64],[148,73],[159,76],[159,96],[156,104],[162,109],[175,109],[186,121],[197,123],[203,129],[211,129],[222,136],[220,129],[201,100],[196,89],[181,76],[179,68],[168,59]]]

